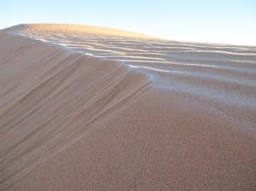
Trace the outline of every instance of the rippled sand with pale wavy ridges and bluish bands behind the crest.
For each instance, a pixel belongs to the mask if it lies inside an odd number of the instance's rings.
[[[251,127],[254,126],[256,47],[45,30],[47,32],[42,28],[26,28],[20,34],[44,39],[85,55],[122,61],[150,73],[158,87],[203,98],[218,112],[229,113],[237,121],[243,119],[236,111],[243,111],[246,107],[248,110],[245,111],[250,114],[244,117]],[[227,111],[227,107],[235,107],[236,111]]]

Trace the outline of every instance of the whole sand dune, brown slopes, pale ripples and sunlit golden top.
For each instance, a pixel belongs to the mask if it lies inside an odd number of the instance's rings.
[[[0,190],[256,189],[255,47],[65,25],[0,47]]]

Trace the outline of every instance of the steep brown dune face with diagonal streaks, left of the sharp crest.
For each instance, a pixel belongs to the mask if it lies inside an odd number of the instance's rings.
[[[142,96],[146,74],[1,34],[1,189]]]

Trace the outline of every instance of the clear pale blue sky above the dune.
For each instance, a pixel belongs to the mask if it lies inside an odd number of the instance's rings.
[[[0,1],[0,28],[69,23],[172,40],[256,45],[256,0]]]

